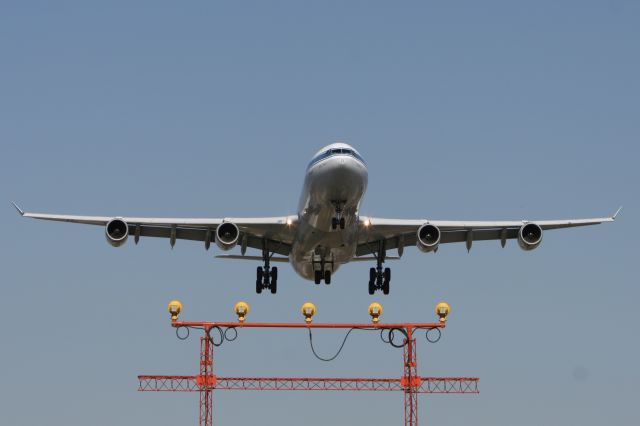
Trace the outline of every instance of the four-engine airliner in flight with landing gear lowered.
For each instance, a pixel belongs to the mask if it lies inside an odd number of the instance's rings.
[[[611,217],[568,220],[452,221],[432,219],[385,219],[360,216],[360,204],[367,190],[367,165],[360,153],[346,143],[327,145],[307,166],[296,215],[258,218],[158,218],[123,216],[74,216],[30,213],[12,203],[23,217],[105,227],[105,236],[114,247],[129,236],[138,244],[140,237],[194,240],[209,249],[211,242],[223,251],[240,246],[239,255],[218,255],[224,259],[260,261],[256,269],[256,292],[268,289],[275,294],[278,268],[274,262],[288,262],[304,279],[316,284],[331,283],[332,275],[348,262],[375,262],[369,270],[368,292],[389,294],[391,269],[383,268],[389,259],[402,257],[405,247],[437,252],[440,244],[516,239],[523,250],[537,248],[543,231],[613,222]],[[261,256],[245,255],[247,248]],[[396,249],[397,256],[387,251]]]

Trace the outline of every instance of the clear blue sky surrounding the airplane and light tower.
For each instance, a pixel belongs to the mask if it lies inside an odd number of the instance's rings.
[[[453,307],[423,375],[481,377],[479,396],[425,396],[429,424],[637,425],[640,4],[635,1],[0,2],[3,226],[0,415],[21,426],[196,424],[197,394],[136,392],[193,374],[185,319],[431,320]],[[388,297],[368,264],[331,286],[202,244],[113,249],[98,227],[20,219],[295,213],[304,168],[344,140],[367,159],[363,213],[437,219],[608,215],[513,242],[408,249]],[[342,338],[316,337],[329,354]],[[398,350],[356,335],[329,364],[304,333],[243,331],[221,375],[398,377]],[[218,393],[219,425],[399,424],[401,394]]]

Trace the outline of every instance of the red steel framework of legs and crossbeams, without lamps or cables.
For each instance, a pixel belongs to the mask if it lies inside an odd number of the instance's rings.
[[[200,426],[213,425],[214,390],[333,390],[333,391],[403,391],[405,425],[418,425],[418,394],[477,394],[477,377],[420,377],[416,357],[416,329],[444,328],[444,323],[402,324],[295,324],[295,323],[229,323],[178,322],[180,327],[205,330],[200,338],[200,372],[197,376],[138,376],[142,392],[199,392]],[[400,378],[330,378],[330,377],[218,377],[213,373],[214,344],[209,337],[212,328],[357,328],[403,330],[404,371]],[[224,335],[224,333],[223,333]]]

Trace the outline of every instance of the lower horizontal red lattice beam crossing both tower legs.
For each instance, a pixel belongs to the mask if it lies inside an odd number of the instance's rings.
[[[322,391],[404,391],[402,379],[327,377],[217,377],[138,376],[141,392],[199,392],[216,390],[322,390]],[[417,393],[479,393],[477,377],[418,377]],[[416,383],[417,382],[417,383]]]

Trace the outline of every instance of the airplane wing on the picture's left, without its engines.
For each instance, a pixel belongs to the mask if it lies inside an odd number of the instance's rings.
[[[240,230],[238,245],[262,250],[264,244],[271,252],[288,256],[291,251],[297,216],[276,216],[261,218],[162,218],[162,217],[122,217],[122,216],[77,216],[65,214],[25,212],[12,203],[22,217],[52,220],[58,222],[82,223],[106,226],[112,219],[127,223],[129,235],[136,244],[140,237],[167,238],[171,246],[175,240],[202,241],[208,248],[215,239],[216,228],[225,222],[235,224]]]

